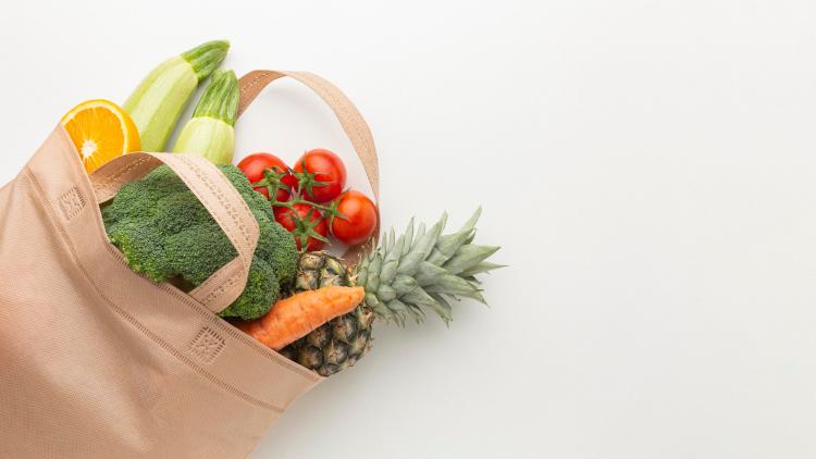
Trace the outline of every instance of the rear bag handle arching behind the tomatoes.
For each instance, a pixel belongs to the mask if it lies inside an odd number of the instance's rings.
[[[346,136],[351,141],[357,157],[362,162],[362,169],[369,179],[371,189],[374,193],[374,201],[380,202],[380,165],[376,157],[374,139],[371,136],[371,129],[362,119],[362,114],[357,110],[351,100],[346,97],[336,86],[322,77],[309,72],[292,72],[275,70],[256,70],[247,73],[238,79],[240,88],[240,102],[238,104],[238,116],[252,103],[256,97],[270,83],[277,78],[288,76],[294,78],[320,96],[323,101],[334,112],[345,131]],[[374,230],[373,241],[380,237],[380,209],[376,210],[376,228]],[[350,247],[343,256],[347,262],[355,263],[368,244],[357,247]]]

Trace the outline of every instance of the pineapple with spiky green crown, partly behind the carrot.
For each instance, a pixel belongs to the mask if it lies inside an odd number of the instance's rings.
[[[449,299],[467,297],[484,302],[475,275],[500,265],[485,261],[498,247],[472,244],[480,214],[481,209],[461,230],[448,235],[442,234],[447,215],[428,231],[420,225],[416,234],[411,220],[404,235],[395,239],[392,230],[356,266],[326,252],[304,253],[293,294],[327,285],[360,285],[366,298],[354,311],[323,324],[281,353],[329,376],[354,365],[371,348],[375,319],[400,326],[408,318],[420,323],[425,318],[423,308],[428,308],[448,323]]]

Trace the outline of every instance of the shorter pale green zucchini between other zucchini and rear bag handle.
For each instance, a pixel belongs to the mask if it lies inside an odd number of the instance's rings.
[[[214,164],[231,164],[239,96],[235,72],[215,71],[173,151],[199,154]]]

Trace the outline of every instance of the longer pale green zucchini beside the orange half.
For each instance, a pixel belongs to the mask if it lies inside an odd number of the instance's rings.
[[[138,127],[145,151],[164,151],[196,87],[221,64],[228,49],[228,41],[208,41],[162,62],[136,87],[124,109]]]

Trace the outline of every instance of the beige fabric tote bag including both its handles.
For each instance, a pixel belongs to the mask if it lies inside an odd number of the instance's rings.
[[[307,73],[242,78],[242,112],[292,76],[334,110],[376,190],[368,126]],[[190,293],[132,272],[99,204],[172,168],[238,256]],[[0,457],[244,458],[321,381],[218,318],[243,290],[258,239],[246,203],[198,157],[132,153],[88,176],[61,126],[0,188]]]

